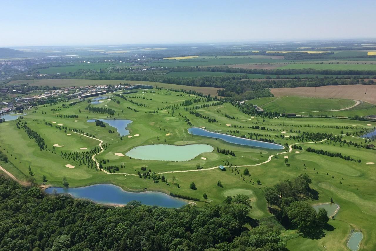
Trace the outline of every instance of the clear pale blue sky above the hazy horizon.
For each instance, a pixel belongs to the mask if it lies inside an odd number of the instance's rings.
[[[3,1],[0,46],[375,38],[375,0]]]

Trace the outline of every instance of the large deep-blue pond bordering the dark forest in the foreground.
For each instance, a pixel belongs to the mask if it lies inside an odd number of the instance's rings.
[[[89,199],[99,204],[125,205],[129,201],[139,201],[145,205],[179,208],[188,204],[188,201],[175,198],[161,192],[126,192],[121,187],[112,184],[96,184],[87,187],[63,188],[49,187],[45,193],[68,193],[73,198]]]

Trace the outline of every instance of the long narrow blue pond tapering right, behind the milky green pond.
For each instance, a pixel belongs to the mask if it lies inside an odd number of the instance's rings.
[[[198,128],[198,127],[188,128],[188,132],[193,135],[205,136],[205,137],[210,137],[210,138],[220,138],[221,140],[224,140],[229,143],[237,144],[237,145],[255,146],[255,147],[266,148],[266,149],[271,149],[271,150],[285,149],[284,146],[277,145],[274,143],[263,142],[263,141],[258,141],[258,140],[250,140],[247,138],[240,138],[240,137],[235,137],[235,136],[227,135],[227,134],[221,134],[217,132],[209,132],[209,131],[206,131],[205,129]]]

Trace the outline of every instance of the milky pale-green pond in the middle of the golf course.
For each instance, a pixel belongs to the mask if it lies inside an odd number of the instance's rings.
[[[204,144],[175,146],[167,144],[137,146],[125,155],[138,160],[187,161],[214,148]]]

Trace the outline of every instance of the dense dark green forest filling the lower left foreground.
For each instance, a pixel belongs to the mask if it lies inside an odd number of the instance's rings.
[[[4,250],[286,250],[273,224],[250,231],[242,227],[250,222],[247,196],[179,209],[136,201],[110,207],[44,196],[38,187],[23,187],[4,176],[0,184]]]

